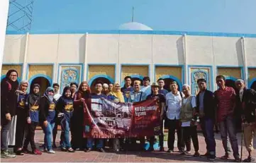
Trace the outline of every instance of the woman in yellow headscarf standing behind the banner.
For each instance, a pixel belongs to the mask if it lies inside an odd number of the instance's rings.
[[[123,92],[121,92],[121,85],[119,85],[119,83],[115,83],[113,85],[111,95],[116,97],[116,99],[114,99],[114,102],[125,102]],[[119,150],[123,150],[123,140],[124,138],[114,138],[113,140],[111,140],[113,141],[114,151],[118,152]]]

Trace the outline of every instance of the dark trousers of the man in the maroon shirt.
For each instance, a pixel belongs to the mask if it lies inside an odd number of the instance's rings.
[[[230,144],[233,150],[233,156],[239,157],[238,152],[238,138],[236,138],[235,133],[235,119],[233,116],[227,116],[224,121],[219,123],[220,131],[221,131],[221,139],[224,150],[226,153],[230,151],[228,147],[228,138],[230,139]]]

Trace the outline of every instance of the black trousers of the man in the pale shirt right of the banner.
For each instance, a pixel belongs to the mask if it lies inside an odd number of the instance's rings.
[[[177,119],[166,119],[168,127],[168,148],[169,150],[174,150],[175,141],[175,130],[177,131],[178,137],[178,149],[182,150],[182,128],[179,126],[179,120]]]

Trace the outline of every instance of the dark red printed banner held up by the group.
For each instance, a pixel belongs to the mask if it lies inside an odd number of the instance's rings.
[[[133,138],[159,135],[158,99],[116,103],[91,99],[84,109],[84,138]]]

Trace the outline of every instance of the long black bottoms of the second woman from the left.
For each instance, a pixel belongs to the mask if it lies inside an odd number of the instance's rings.
[[[17,109],[17,123],[16,123],[16,136],[15,147],[16,149],[23,147],[25,127],[27,123],[27,112],[25,109]]]

